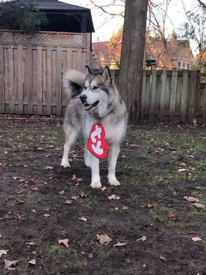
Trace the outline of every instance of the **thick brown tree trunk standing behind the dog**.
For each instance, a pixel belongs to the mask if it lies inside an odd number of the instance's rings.
[[[126,0],[119,90],[131,124],[137,124],[140,115],[147,10],[148,0]]]

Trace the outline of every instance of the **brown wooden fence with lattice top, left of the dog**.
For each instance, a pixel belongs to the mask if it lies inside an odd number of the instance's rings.
[[[90,34],[0,31],[0,113],[62,115],[62,74],[90,60]]]

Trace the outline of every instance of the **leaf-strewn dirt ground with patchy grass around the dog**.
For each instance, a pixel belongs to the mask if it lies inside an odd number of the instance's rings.
[[[206,274],[206,209],[184,199],[206,205],[205,127],[130,126],[121,186],[108,186],[100,165],[105,190],[89,186],[81,138],[71,168],[60,167],[63,144],[60,118],[0,115],[0,274]],[[5,259],[19,261],[15,270]]]

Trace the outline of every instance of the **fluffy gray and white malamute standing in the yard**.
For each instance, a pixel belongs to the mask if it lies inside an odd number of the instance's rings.
[[[91,168],[91,187],[100,188],[100,160],[87,149],[87,141],[92,126],[102,122],[108,141],[108,183],[119,186],[115,176],[115,166],[119,146],[126,133],[126,105],[111,79],[108,67],[102,73],[92,73],[88,66],[85,75],[74,69],[65,74],[64,86],[69,94],[69,104],[65,113],[64,129],[66,142],[61,166],[68,167],[69,151],[82,129],[84,133],[84,163]]]

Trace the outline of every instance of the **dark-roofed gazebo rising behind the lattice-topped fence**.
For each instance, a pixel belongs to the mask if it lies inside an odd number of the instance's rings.
[[[89,10],[89,8],[83,8],[78,5],[71,5],[69,3],[60,2],[58,0],[25,0],[25,2],[31,3],[36,8],[38,8],[38,10],[46,12],[47,17],[49,17],[49,14],[51,14],[49,22],[52,23],[53,21],[54,25],[54,20],[56,19],[56,30],[54,31],[61,31],[60,29],[64,28],[63,24],[66,22],[66,19],[64,22],[60,22],[60,17],[63,18],[69,14],[78,17],[82,21],[83,28],[81,32],[95,31],[93,28],[91,10]],[[86,28],[86,30],[84,30],[84,28]]]

